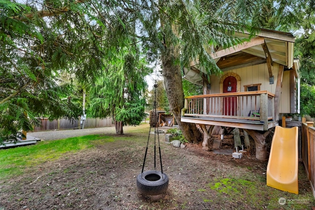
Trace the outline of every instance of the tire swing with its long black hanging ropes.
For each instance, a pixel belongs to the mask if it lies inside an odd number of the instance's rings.
[[[155,113],[154,118],[156,120],[157,119],[156,101],[157,101],[157,88],[158,88],[157,83],[154,84],[154,88],[155,88],[155,100],[154,100],[153,112]],[[157,124],[158,123],[156,122],[155,129],[154,129],[154,168],[156,168],[156,136],[159,133]],[[150,133],[151,133],[151,125],[150,125],[150,130],[149,130],[148,141],[147,141],[147,148],[146,148],[143,165],[142,165],[142,171],[137,176],[137,188],[138,188],[138,191],[143,195],[159,195],[166,192],[168,188],[168,176],[163,173],[163,168],[162,168],[162,158],[161,158],[161,149],[160,149],[160,144],[159,144],[159,136],[158,136],[158,151],[159,151],[161,171],[150,170],[150,171],[143,172],[146,157],[147,157],[147,152],[148,152]]]

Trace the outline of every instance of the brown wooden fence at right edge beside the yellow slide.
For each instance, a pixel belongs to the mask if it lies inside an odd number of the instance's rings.
[[[314,122],[302,122],[302,159],[315,198],[315,127]]]

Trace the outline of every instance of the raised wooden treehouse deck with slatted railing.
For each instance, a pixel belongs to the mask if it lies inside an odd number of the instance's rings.
[[[183,122],[268,130],[274,118],[274,94],[266,91],[231,92],[185,97]]]

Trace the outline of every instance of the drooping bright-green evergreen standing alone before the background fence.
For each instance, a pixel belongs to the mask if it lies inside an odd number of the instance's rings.
[[[151,69],[132,49],[123,48],[120,53],[90,89],[90,115],[112,117],[116,133],[124,134],[124,125],[139,125],[145,117],[144,78]]]

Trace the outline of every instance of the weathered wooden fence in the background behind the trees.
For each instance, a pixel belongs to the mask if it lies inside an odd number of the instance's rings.
[[[41,118],[41,125],[34,126],[33,131],[43,130],[63,130],[63,129],[74,129],[81,128],[81,119],[59,119],[59,120],[48,120],[47,118]],[[84,121],[84,128],[95,128],[95,127],[110,127],[112,126],[111,118],[87,118]]]

